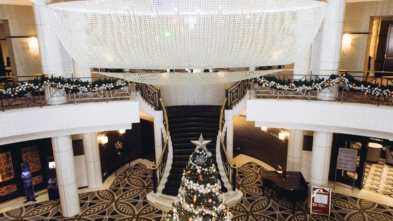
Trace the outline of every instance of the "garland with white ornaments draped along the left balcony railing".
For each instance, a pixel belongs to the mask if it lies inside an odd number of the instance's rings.
[[[0,97],[23,97],[32,92],[42,92],[45,87],[56,88],[58,90],[64,90],[67,94],[73,94],[118,90],[128,86],[128,84],[129,82],[121,79],[103,79],[90,82],[61,77],[43,78],[26,82],[17,82],[12,86],[0,88]]]

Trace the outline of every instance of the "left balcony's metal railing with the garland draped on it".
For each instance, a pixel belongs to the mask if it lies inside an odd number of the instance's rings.
[[[136,98],[156,109],[159,89],[115,78],[48,78],[44,75],[0,78],[1,110],[45,105],[109,102]]]

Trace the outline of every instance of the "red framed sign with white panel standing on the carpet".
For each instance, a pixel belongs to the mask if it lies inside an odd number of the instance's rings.
[[[330,188],[316,187],[311,188],[311,214],[330,215],[330,204],[332,198]]]

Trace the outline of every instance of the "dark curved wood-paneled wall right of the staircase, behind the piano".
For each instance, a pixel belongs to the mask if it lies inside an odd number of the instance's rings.
[[[254,122],[243,116],[234,118],[234,149],[257,158],[274,168],[287,165],[287,141],[282,141],[269,132],[256,128]]]

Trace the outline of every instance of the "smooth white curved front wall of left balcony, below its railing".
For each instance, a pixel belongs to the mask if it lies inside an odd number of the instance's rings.
[[[137,101],[23,108],[0,112],[0,145],[20,141],[129,129],[139,122]]]

